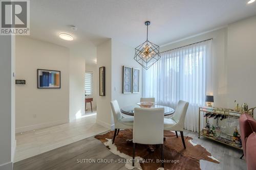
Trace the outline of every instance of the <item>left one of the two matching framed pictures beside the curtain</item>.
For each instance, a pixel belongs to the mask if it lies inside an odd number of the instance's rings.
[[[132,67],[123,66],[123,93],[132,93]]]

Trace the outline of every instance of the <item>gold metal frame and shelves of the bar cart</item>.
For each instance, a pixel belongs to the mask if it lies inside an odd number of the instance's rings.
[[[239,149],[239,150],[243,150],[242,147],[237,147],[236,143],[234,141],[232,141],[232,135],[228,135],[225,134],[227,136],[230,136],[230,140],[227,138],[222,138],[219,136],[209,136],[208,134],[203,134],[203,131],[200,129],[200,116],[201,114],[205,114],[205,113],[215,113],[215,114],[222,114],[225,115],[227,117],[233,117],[233,118],[239,118],[241,114],[247,113],[249,115],[251,115],[253,117],[253,111],[256,107],[249,109],[248,111],[237,111],[237,110],[233,110],[233,109],[226,109],[226,108],[217,108],[217,107],[199,107],[199,133],[198,133],[198,138],[200,138],[200,136],[206,137],[208,139],[229,145],[230,147]],[[205,117],[206,122],[207,122],[207,117]]]

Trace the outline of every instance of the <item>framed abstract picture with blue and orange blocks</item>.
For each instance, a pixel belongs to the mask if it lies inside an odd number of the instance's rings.
[[[37,69],[37,88],[60,88],[60,71]]]

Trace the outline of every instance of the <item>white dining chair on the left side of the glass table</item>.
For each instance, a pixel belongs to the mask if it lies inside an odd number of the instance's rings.
[[[133,117],[123,117],[118,102],[116,100],[110,102],[112,114],[115,124],[115,133],[113,136],[112,144],[115,141],[116,135],[118,135],[120,129],[133,129]]]

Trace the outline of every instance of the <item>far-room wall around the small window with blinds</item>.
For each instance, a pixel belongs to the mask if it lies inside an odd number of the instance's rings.
[[[97,84],[99,82],[99,76],[97,74],[97,65],[96,64],[86,64],[86,71],[91,71],[93,73],[93,94],[92,96],[88,96],[88,98],[93,98],[93,102],[92,102],[92,107],[93,110],[96,109],[97,106],[97,95],[98,95],[98,88],[97,88]],[[87,104],[87,112],[91,111],[91,105]]]

